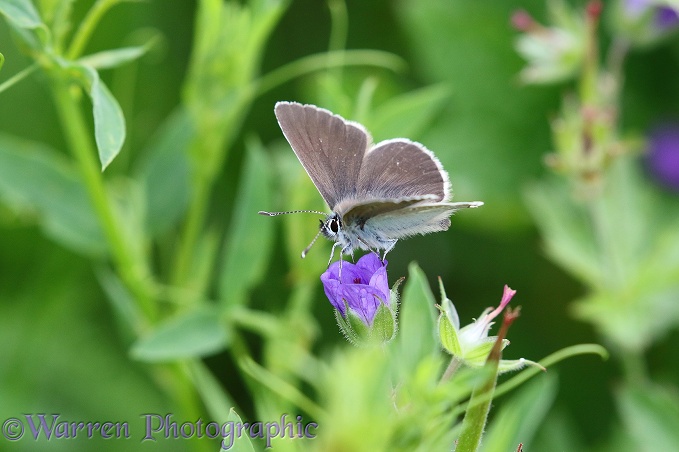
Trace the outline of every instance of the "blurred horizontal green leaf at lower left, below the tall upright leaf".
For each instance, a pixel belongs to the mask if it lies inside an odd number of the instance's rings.
[[[133,345],[131,355],[141,361],[173,361],[217,353],[227,343],[218,310],[203,306],[159,325]]]

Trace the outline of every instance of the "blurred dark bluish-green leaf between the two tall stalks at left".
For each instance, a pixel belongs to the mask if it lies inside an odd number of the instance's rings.
[[[152,236],[175,225],[191,198],[188,146],[195,129],[184,109],[172,113],[137,168],[146,196],[146,227]]]

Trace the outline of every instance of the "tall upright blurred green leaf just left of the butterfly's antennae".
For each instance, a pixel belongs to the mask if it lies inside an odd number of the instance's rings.
[[[225,306],[244,303],[247,291],[264,276],[274,223],[257,212],[273,203],[273,168],[258,141],[246,144],[232,223],[224,246],[220,296]]]

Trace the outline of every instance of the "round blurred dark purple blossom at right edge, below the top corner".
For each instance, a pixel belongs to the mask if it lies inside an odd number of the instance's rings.
[[[646,163],[655,179],[679,191],[679,124],[667,124],[651,132]]]

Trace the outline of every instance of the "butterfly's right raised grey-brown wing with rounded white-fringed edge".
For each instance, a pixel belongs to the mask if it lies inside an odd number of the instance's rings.
[[[398,138],[375,145],[363,159],[358,199],[433,196],[448,201],[450,182],[436,156],[423,145]]]

